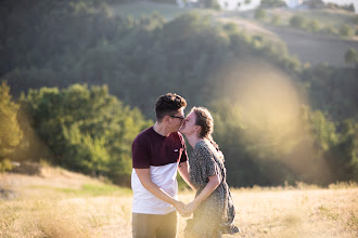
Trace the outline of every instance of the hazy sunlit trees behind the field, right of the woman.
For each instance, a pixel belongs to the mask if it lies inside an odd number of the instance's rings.
[[[271,133],[274,129],[252,118],[240,102],[219,101],[212,106],[214,138],[226,156],[230,184],[270,186],[303,181],[328,185],[336,180],[357,180],[354,121],[345,122],[345,129],[338,132],[321,111],[303,107],[301,117],[290,121],[290,127],[280,124],[282,130]]]

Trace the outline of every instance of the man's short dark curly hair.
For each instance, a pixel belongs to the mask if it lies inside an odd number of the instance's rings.
[[[175,94],[167,93],[159,96],[155,103],[155,116],[156,120],[161,122],[163,118],[167,115],[175,115],[180,108],[187,107],[187,101]]]

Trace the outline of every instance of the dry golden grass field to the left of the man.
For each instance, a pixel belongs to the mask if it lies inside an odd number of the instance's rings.
[[[130,237],[131,190],[61,168],[0,173],[0,237]]]

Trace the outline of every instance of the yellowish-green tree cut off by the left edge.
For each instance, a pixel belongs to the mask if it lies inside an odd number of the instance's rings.
[[[0,85],[0,172],[12,169],[9,157],[23,137],[17,110],[18,105],[12,101],[10,88],[3,81]]]

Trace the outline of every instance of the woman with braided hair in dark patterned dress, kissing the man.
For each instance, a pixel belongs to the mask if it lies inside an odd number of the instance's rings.
[[[233,224],[235,211],[226,182],[223,156],[213,141],[214,121],[204,107],[194,107],[184,119],[180,132],[194,148],[189,159],[189,178],[196,189],[195,199],[187,206],[188,220],[186,237],[221,237],[221,234],[235,234]]]

